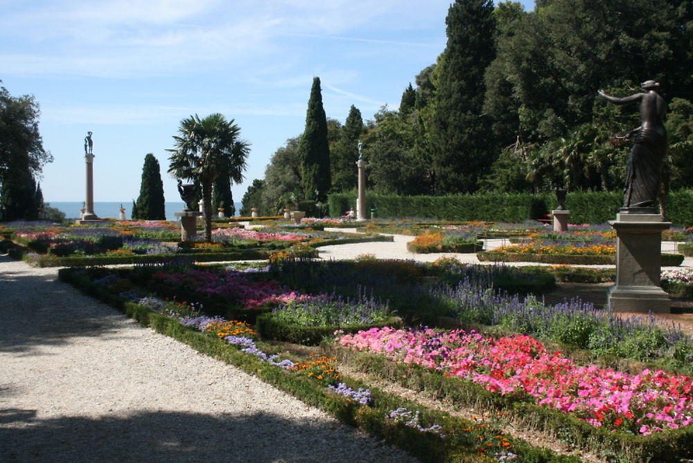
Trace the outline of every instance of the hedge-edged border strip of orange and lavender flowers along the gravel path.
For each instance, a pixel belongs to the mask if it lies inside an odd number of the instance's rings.
[[[275,347],[254,340],[249,326],[229,320],[191,315],[185,304],[141,298],[123,302],[107,286],[86,278],[85,270],[61,269],[60,279],[68,281],[145,326],[186,342],[194,349],[243,371],[258,376],[299,399],[332,414],[337,419],[385,439],[409,451],[424,462],[500,460],[537,463],[578,462],[577,457],[556,455],[534,448],[521,439],[500,433],[487,423],[450,417],[445,412],[423,408],[401,397],[366,388],[344,378],[333,364],[335,358],[281,358]],[[182,326],[188,327],[183,328]]]

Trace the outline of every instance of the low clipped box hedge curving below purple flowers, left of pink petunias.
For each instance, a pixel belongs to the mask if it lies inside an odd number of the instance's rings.
[[[393,326],[395,328],[400,328],[402,326],[402,319],[399,317],[393,317],[383,323],[355,326],[298,326],[277,322],[277,320],[274,320],[274,317],[272,317],[272,313],[263,313],[259,315],[255,322],[256,329],[263,338],[304,344],[306,346],[317,346],[326,336],[333,335],[337,330],[351,334],[371,328],[382,328],[383,326]]]

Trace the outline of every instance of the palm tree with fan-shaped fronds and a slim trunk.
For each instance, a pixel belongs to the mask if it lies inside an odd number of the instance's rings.
[[[222,114],[210,114],[204,119],[195,114],[183,119],[174,136],[175,148],[168,151],[168,173],[181,180],[191,180],[202,187],[204,202],[204,239],[211,241],[212,184],[222,175],[232,182],[243,181],[249,143],[239,140],[240,128]]]

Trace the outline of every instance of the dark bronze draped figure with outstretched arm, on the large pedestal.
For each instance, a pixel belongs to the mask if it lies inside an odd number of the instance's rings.
[[[597,92],[606,101],[617,105],[640,104],[642,124],[626,135],[626,139],[634,136],[635,144],[626,164],[624,209],[654,206],[662,165],[667,155],[667,130],[664,127],[667,103],[657,93],[659,82],[647,80],[641,86],[643,92],[625,98],[607,95],[602,90]]]

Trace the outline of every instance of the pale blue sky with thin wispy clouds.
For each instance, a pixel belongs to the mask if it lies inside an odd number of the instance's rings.
[[[525,10],[534,0],[523,0]],[[270,158],[303,132],[313,77],[326,115],[344,123],[396,110],[446,45],[450,0],[0,0],[0,80],[40,105],[54,161],[46,202],[85,200],[93,132],[94,200],[132,204],[144,157],[161,165],[182,119],[219,112],[249,142],[240,202]],[[356,167],[355,167],[356,168]],[[128,204],[124,204],[128,208]],[[129,209],[129,208],[128,208]]]

